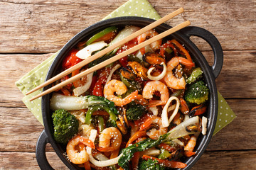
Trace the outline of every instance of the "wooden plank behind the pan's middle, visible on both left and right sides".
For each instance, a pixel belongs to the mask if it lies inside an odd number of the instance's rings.
[[[23,77],[53,53],[46,55],[0,55],[0,106],[23,106],[23,94],[15,81]],[[203,52],[213,63],[212,52]],[[242,57],[241,57],[242,56]],[[218,91],[225,98],[256,98],[256,51],[225,51],[223,69],[216,79]],[[15,66],[15,67],[14,67]],[[230,88],[232,86],[232,88]]]

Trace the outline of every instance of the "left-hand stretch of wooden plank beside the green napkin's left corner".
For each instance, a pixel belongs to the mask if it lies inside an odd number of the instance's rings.
[[[0,106],[24,106],[21,98],[23,94],[15,86],[15,81],[21,79],[31,69],[41,64],[50,55],[0,55]]]

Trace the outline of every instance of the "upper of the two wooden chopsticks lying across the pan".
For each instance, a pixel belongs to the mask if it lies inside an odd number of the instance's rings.
[[[111,52],[112,50],[123,45],[124,43],[129,42],[130,40],[136,38],[139,35],[142,35],[147,30],[151,30],[151,29],[155,28],[156,26],[159,26],[161,23],[164,23],[165,21],[168,21],[169,19],[174,18],[174,16],[177,16],[178,14],[183,13],[183,11],[184,11],[183,8],[178,8],[176,11],[169,13],[167,16],[160,18],[159,20],[155,21],[154,23],[151,23],[148,26],[145,26],[144,28],[137,30],[137,32],[132,33],[131,35],[127,36],[127,38],[124,38],[123,40],[120,40],[119,42],[114,43],[113,45],[105,48],[104,50],[102,50],[100,52],[97,52],[95,55],[92,55],[91,57],[87,58],[86,60],[83,60],[82,62],[75,64],[75,66],[70,67],[69,69],[66,69],[65,71],[61,72],[60,74],[56,75],[55,77],[48,79],[48,81],[45,81],[43,84],[36,86],[36,88],[32,89],[31,91],[28,91],[26,93],[26,95],[31,94],[34,91],[37,91],[37,90],[43,88],[44,86],[47,86],[48,84],[52,84],[53,82],[65,77],[66,75],[70,74],[71,72],[75,71],[76,69],[80,69],[81,67],[92,62],[93,60],[96,60],[97,58],[102,57],[103,55],[107,54],[107,52]]]

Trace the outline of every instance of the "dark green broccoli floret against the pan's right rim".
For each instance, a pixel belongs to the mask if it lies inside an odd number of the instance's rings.
[[[208,100],[209,89],[203,81],[188,86],[185,91],[185,100],[189,103],[197,103],[198,105]]]

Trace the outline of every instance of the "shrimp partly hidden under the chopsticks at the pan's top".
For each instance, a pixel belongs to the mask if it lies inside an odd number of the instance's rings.
[[[158,34],[159,33],[157,33],[156,30],[148,30],[148,31],[146,31],[146,33],[143,33],[142,35],[138,36],[138,38],[137,38],[138,44],[140,44],[140,43],[144,42],[144,40],[147,40],[147,39],[149,39],[151,37],[154,37]],[[152,42],[150,44],[151,49],[153,51],[156,51],[156,50],[160,49],[161,42],[162,42],[162,39],[156,40],[155,42]],[[139,51],[142,53],[142,55],[144,55],[145,52],[146,52],[145,47],[141,48]]]

